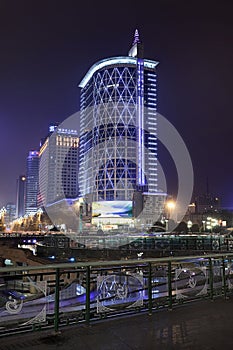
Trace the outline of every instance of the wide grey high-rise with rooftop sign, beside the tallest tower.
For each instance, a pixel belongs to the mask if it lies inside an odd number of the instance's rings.
[[[78,196],[78,142],[77,130],[49,126],[39,152],[40,207]]]

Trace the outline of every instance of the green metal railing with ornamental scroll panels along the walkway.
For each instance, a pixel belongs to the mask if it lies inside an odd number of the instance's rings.
[[[0,268],[0,336],[233,294],[233,254]]]

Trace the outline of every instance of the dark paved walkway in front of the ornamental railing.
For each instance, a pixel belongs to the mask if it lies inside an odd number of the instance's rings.
[[[233,298],[0,339],[0,350],[233,349]]]

